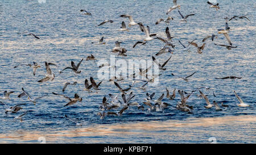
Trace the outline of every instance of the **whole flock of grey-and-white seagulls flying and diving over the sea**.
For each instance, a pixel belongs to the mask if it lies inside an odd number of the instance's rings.
[[[218,9],[220,9],[219,3],[213,4],[209,1],[207,3],[210,5],[210,8],[215,8],[216,11]],[[167,10],[167,12],[166,12],[167,15],[170,15],[176,9],[179,9],[179,10],[177,10],[177,12],[179,12],[179,15],[181,16],[181,20],[180,20],[181,22],[189,22],[188,17],[195,15],[195,14],[188,14],[188,15],[183,16],[183,14],[181,14],[181,11],[180,11],[181,6],[177,5],[177,0],[174,0],[173,4],[174,5],[171,6],[170,9]],[[86,10],[80,10],[80,11],[81,11],[82,15],[88,15],[88,16],[92,17],[92,14],[90,12],[88,12]],[[120,15],[120,17],[129,19],[128,27],[138,26],[139,30],[144,32],[144,35],[145,35],[144,39],[140,40],[140,41],[137,41],[133,45],[133,48],[135,48],[138,44],[145,45],[148,41],[151,41],[153,39],[157,39],[157,40],[162,41],[164,43],[164,47],[161,48],[160,51],[155,54],[155,56],[163,55],[163,54],[166,54],[166,53],[170,53],[170,55],[171,55],[173,53],[173,51],[174,51],[174,49],[177,45],[175,45],[174,42],[172,41],[174,36],[171,36],[170,29],[168,27],[166,27],[166,31],[165,31],[166,39],[165,39],[165,38],[159,37],[156,33],[151,33],[149,26],[144,26],[143,23],[134,22],[134,19],[131,15],[123,14],[123,15]],[[232,43],[232,41],[229,37],[230,27],[228,26],[228,22],[230,20],[238,20],[237,18],[238,19],[247,19],[247,20],[249,20],[246,16],[233,16],[230,19],[225,18],[226,19],[225,28],[218,29],[217,31],[218,31],[218,33],[223,34],[225,36],[229,45],[214,43],[215,45],[220,45],[220,46],[226,47],[227,49],[232,49],[232,48],[237,47],[237,46],[233,47],[233,43]],[[174,20],[174,18],[172,16],[168,16],[166,20],[160,18],[156,21],[155,25],[160,24],[160,22],[162,22],[162,21],[164,21],[166,24],[168,24],[168,23],[171,22],[171,20]],[[106,23],[110,24],[110,23],[113,23],[113,22],[114,22],[113,20],[107,19],[107,20],[104,20],[104,22],[98,24],[96,27],[100,27],[100,26],[102,26]],[[122,22],[121,27],[120,27],[121,29],[119,29],[119,31],[129,31],[128,27],[126,27],[125,22]],[[34,36],[36,39],[40,39],[38,36],[34,35],[33,33],[27,33],[26,32],[26,34],[30,35],[30,36]],[[195,43],[195,41],[197,39],[194,39],[192,41],[189,41],[188,45],[184,45],[183,43],[181,43],[181,40],[178,40],[178,41],[179,41],[179,44],[183,47],[183,51],[191,52],[190,51],[191,48],[189,47],[189,45],[192,45],[192,46],[196,47],[197,53],[202,54],[203,50],[205,48],[205,44],[206,44],[205,41],[207,39],[211,39],[212,41],[214,41],[214,39],[216,39],[216,38],[217,38],[217,35],[210,34],[210,35],[205,36],[201,43],[200,42]],[[127,50],[121,46],[121,43],[122,43],[121,41],[115,41],[115,47],[112,49],[112,52],[113,53],[118,53],[118,56],[125,57],[125,56],[127,56],[127,54],[126,54]],[[94,44],[94,43],[92,43],[92,44]],[[104,42],[104,36],[102,36],[101,39],[98,41],[98,43],[95,43],[95,44],[97,44],[97,45],[106,44]],[[168,56],[168,59],[166,61],[164,61],[163,63],[161,63],[161,64],[155,56],[151,56],[152,61],[154,61],[154,63],[158,66],[158,68],[161,72],[164,72],[167,69],[167,66],[166,66],[167,63],[171,60],[172,56],[170,56],[170,57]],[[79,70],[79,66],[81,65],[83,60],[84,60],[84,58],[82,58],[77,65],[75,65],[75,62],[71,61],[71,66],[67,66],[62,70],[59,68],[58,65],[56,65],[52,62],[45,62],[46,75],[45,75],[44,78],[40,79],[38,82],[51,82],[55,79],[55,74],[52,72],[50,66],[56,67],[59,70],[59,74],[64,74],[64,71],[67,70],[67,72],[68,72],[68,70],[69,70],[69,71],[74,72],[75,76],[78,76],[81,73],[81,70]],[[97,59],[93,55],[90,55],[90,56],[86,57],[86,61],[89,61],[89,60],[92,60],[92,61],[95,62]],[[29,66],[29,67],[33,68],[34,76],[36,74],[36,69],[41,67],[38,63],[33,62],[32,64],[19,64],[19,65],[14,66],[14,68],[18,68],[19,66]],[[108,67],[108,68],[113,67],[113,68],[115,68],[115,66],[110,66],[109,64],[102,64],[102,65],[99,66],[99,68],[103,68],[103,67]],[[102,99],[102,103],[99,103],[99,110],[101,112],[98,112],[97,115],[100,116],[100,119],[104,119],[106,116],[109,116],[109,115],[122,116],[123,113],[125,111],[127,111],[130,107],[137,107],[138,110],[163,111],[164,108],[168,108],[169,106],[172,106],[172,105],[170,103],[163,102],[162,100],[164,99],[164,97],[166,97],[169,100],[174,100],[176,98],[176,91],[180,95],[180,100],[177,102],[177,104],[175,106],[177,110],[185,111],[185,112],[188,112],[188,113],[193,113],[193,106],[189,106],[188,103],[187,103],[187,100],[196,91],[199,92],[199,95],[197,95],[197,96],[199,96],[200,98],[205,99],[205,102],[206,102],[206,105],[204,106],[205,108],[209,109],[209,108],[215,107],[216,111],[220,111],[221,107],[218,106],[218,103],[221,103],[220,105],[222,107],[228,107],[228,105],[223,104],[223,102],[216,102],[215,100],[213,100],[212,103],[210,102],[210,100],[207,97],[208,95],[205,95],[203,93],[203,91],[201,91],[201,89],[203,89],[203,88],[205,88],[206,91],[212,90],[209,87],[200,87],[198,89],[193,90],[191,93],[187,93],[184,90],[176,90],[176,88],[174,88],[173,90],[171,90],[171,92],[172,92],[171,94],[170,94],[170,91],[168,90],[168,88],[166,87],[165,92],[162,93],[162,95],[160,95],[160,97],[154,99],[155,93],[148,94],[147,85],[148,85],[149,82],[154,82],[154,79],[156,77],[161,76],[162,74],[150,75],[150,74],[148,74],[148,71],[150,69],[151,69],[151,66],[146,68],[146,69],[140,68],[137,73],[134,73],[134,74],[128,76],[127,79],[133,78],[132,85],[129,85],[128,87],[120,85],[120,82],[126,80],[126,78],[123,77],[122,75],[119,75],[119,78],[118,77],[110,78],[109,81],[114,83],[114,85],[116,86],[119,93],[118,94],[108,94],[108,99],[107,99],[107,97],[104,97]],[[177,78],[181,78],[186,82],[189,82],[188,79],[192,78],[192,76],[194,74],[196,74],[196,72],[193,72],[192,74],[189,74],[188,76],[183,77],[183,76],[178,76],[174,73],[171,73],[172,76],[177,77]],[[147,80],[136,79],[136,77],[138,77],[138,76],[146,77]],[[216,78],[216,79],[236,79],[236,78],[240,79],[242,77],[227,76],[227,77]],[[84,87],[83,90],[87,91],[88,93],[93,93],[93,91],[95,91],[95,93],[98,93],[98,91],[101,90],[100,85],[101,85],[102,82],[103,81],[100,81],[100,82],[96,83],[96,81],[94,81],[93,77],[90,77],[89,80],[85,79],[85,81],[84,81],[85,87]],[[134,89],[133,89],[134,85],[135,85],[135,82],[144,82],[140,87],[138,87],[138,89],[143,90],[144,92],[147,92],[145,94],[146,98],[144,98],[144,100],[142,102],[140,102],[141,104],[138,103],[138,102],[132,102],[132,100],[136,96],[134,94]],[[73,82],[73,83],[66,82],[63,86],[62,92],[64,93],[64,91],[69,86],[79,86],[79,82]],[[3,92],[3,97],[1,99],[10,99],[10,96],[13,93],[14,93],[14,91],[10,91],[10,92],[4,91]],[[239,104],[237,104],[238,106],[240,106],[240,107],[248,107],[249,106],[249,104],[246,104],[242,101],[242,99],[238,96],[236,91],[233,91],[233,93],[236,96],[236,98],[238,99],[238,101],[240,102]],[[74,104],[77,104],[77,102],[82,102],[82,97],[80,97],[80,95],[77,94],[77,93],[74,94],[73,98],[70,98],[65,94],[59,94],[59,93],[55,93],[55,92],[52,92],[50,94],[60,96],[60,97],[64,97],[65,99],[67,99],[67,103],[65,103],[63,105],[63,107],[72,106]],[[28,98],[28,101],[36,104],[38,99],[46,97],[48,95],[49,94],[43,95],[42,97],[32,98],[31,95],[28,94],[27,91],[25,91],[22,87],[21,94],[18,95],[18,98],[21,98],[21,97],[25,96],[25,97]],[[121,95],[122,99],[119,99],[120,95]],[[213,95],[214,95],[214,97],[216,97],[216,95],[214,94],[214,91],[213,91]],[[9,107],[5,102],[1,101],[0,103],[3,104],[6,107],[6,109],[5,109],[6,114],[7,113],[15,114],[15,113],[17,113],[17,112],[19,112],[20,110],[23,109],[21,106],[24,106],[26,104],[26,103],[16,104],[15,106]],[[14,119],[18,119],[18,120],[22,121],[23,117],[27,114],[27,112],[28,111],[23,112],[22,114],[20,114],[18,116],[15,116]],[[82,125],[81,123],[77,122],[76,119],[70,118],[68,115],[65,115],[65,118],[67,118],[71,122],[75,123],[77,126]]]

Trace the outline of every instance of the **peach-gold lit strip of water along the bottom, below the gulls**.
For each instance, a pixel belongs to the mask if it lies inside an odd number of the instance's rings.
[[[218,118],[188,118],[136,123],[96,124],[90,127],[75,127],[72,130],[36,132],[16,131],[1,134],[0,143],[39,143],[39,137],[46,137],[47,143],[209,143],[208,138],[216,136],[228,143],[255,143],[256,116],[225,116]],[[79,139],[76,139],[76,138]],[[93,138],[92,138],[93,137]],[[131,138],[136,137],[137,139]],[[129,139],[121,141],[119,138]],[[146,141],[146,138],[153,139]],[[203,140],[203,141],[202,141]],[[223,140],[222,143],[226,143]]]

